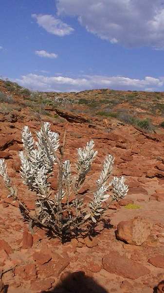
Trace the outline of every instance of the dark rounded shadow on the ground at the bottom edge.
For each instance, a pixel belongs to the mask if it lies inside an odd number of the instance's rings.
[[[40,293],[108,293],[85,272],[64,272],[59,282],[51,291]]]

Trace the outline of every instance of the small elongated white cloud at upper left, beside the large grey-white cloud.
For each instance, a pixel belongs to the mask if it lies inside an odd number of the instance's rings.
[[[53,15],[32,14],[31,17],[35,18],[37,24],[42,26],[48,33],[57,36],[70,35],[74,31],[71,26],[59,19],[55,19]]]

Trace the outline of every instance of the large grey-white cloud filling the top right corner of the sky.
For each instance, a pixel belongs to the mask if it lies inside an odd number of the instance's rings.
[[[57,0],[58,15],[77,16],[87,31],[127,47],[164,49],[161,0]]]

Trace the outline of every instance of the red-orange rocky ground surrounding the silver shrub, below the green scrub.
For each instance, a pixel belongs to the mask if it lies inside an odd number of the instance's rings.
[[[0,86],[4,92],[2,83]],[[40,123],[34,108],[23,104],[26,99],[22,95],[15,95],[15,100],[15,104],[0,103],[0,158],[6,160],[19,199],[33,211],[35,194],[22,184],[18,152],[23,149],[22,127],[29,126],[35,137]],[[124,107],[130,108],[126,103]],[[90,171],[92,178],[82,190],[88,192],[85,200],[90,200],[90,191],[108,153],[115,156],[112,175],[126,178],[129,186],[126,199],[110,206],[94,234],[83,234],[62,243],[40,228],[35,228],[35,235],[31,234],[18,203],[7,198],[0,176],[0,290],[3,293],[162,293],[164,129],[158,125],[163,116],[161,112],[151,116],[155,128],[145,131],[117,118],[96,116],[93,112],[90,115],[84,105],[73,105],[73,109],[76,111],[46,105],[44,110],[49,115],[43,113],[42,118],[51,123],[61,141],[67,130],[64,156],[72,164],[78,147],[91,139],[95,142],[98,155]],[[139,115],[142,119],[147,117],[142,109]],[[51,179],[54,190],[56,176],[55,170]]]

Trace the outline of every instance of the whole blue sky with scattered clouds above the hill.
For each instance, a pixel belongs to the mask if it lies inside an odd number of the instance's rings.
[[[164,2],[1,1],[0,75],[39,91],[164,91]]]

